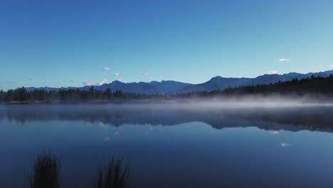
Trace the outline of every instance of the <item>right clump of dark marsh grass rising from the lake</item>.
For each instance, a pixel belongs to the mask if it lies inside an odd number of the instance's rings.
[[[110,159],[105,167],[97,170],[97,177],[93,182],[92,188],[125,188],[130,187],[129,164],[124,159]]]

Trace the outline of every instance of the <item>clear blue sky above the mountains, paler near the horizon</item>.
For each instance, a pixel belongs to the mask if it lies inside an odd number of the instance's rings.
[[[1,1],[0,89],[327,71],[332,9],[331,0]]]

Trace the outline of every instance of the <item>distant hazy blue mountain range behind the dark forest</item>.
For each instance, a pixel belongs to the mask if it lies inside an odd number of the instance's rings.
[[[319,73],[286,73],[286,74],[265,74],[260,75],[256,78],[223,78],[221,76],[216,76],[211,78],[211,80],[206,81],[205,83],[192,84],[192,83],[181,83],[173,80],[162,80],[161,82],[151,81],[139,82],[139,83],[122,83],[118,80],[113,81],[112,83],[105,83],[103,85],[94,85],[97,90],[106,90],[111,88],[112,91],[122,90],[125,93],[144,93],[144,94],[172,94],[172,93],[188,93],[191,91],[211,91],[211,90],[223,90],[226,88],[236,88],[241,85],[258,85],[258,84],[269,84],[277,83],[278,81],[287,81],[294,78],[302,79],[307,78],[312,75],[327,77],[330,74],[333,74],[332,71],[324,71]],[[68,88],[34,88],[29,87],[27,90],[34,89],[43,89],[43,90],[68,90],[75,87]],[[79,88],[80,90],[88,90],[90,85],[83,86]]]

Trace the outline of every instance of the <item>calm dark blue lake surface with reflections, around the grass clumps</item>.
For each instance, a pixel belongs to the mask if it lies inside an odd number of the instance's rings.
[[[24,187],[43,150],[63,187],[125,156],[135,187],[333,187],[333,108],[0,106],[0,187]]]

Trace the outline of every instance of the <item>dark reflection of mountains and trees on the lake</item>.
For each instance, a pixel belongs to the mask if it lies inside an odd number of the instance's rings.
[[[258,127],[264,130],[333,129],[332,107],[186,108],[186,105],[11,105],[0,108],[0,119],[26,121],[82,120],[107,125],[179,125],[205,122],[216,129]],[[271,123],[268,123],[271,122]]]

